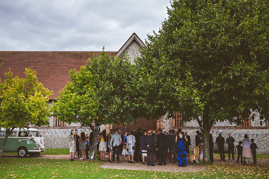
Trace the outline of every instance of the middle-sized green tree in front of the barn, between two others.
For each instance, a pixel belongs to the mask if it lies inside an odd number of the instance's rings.
[[[54,99],[54,115],[67,123],[90,126],[94,132],[93,152],[101,124],[127,124],[137,121],[134,103],[127,88],[132,82],[133,67],[123,55],[103,53],[89,58],[79,71],[70,70],[71,83]]]

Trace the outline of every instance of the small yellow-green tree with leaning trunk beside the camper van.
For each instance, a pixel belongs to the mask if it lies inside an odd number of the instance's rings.
[[[26,78],[14,78],[9,69],[5,73],[4,83],[0,83],[0,126],[6,129],[0,159],[13,129],[26,127],[26,124],[46,125],[51,116],[51,108],[47,102],[52,92],[37,81],[34,70],[26,68],[25,75]]]

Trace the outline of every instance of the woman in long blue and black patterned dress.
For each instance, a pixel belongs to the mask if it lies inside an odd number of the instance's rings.
[[[188,139],[185,135],[181,134],[181,129],[178,129],[177,135],[175,138],[175,142],[177,142],[177,154],[178,154],[178,166],[186,166],[187,163],[187,152],[186,152],[186,146],[184,142],[184,138],[186,141]]]

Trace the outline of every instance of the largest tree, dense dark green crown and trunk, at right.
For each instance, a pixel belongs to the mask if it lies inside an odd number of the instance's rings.
[[[148,93],[160,87],[155,101],[151,95],[139,100],[197,120],[205,162],[216,121],[239,125],[250,109],[258,109],[261,122],[269,119],[268,14],[264,0],[174,0],[136,61]]]

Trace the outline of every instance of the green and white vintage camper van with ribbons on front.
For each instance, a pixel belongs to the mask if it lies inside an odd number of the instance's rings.
[[[3,143],[6,130],[1,128],[0,144]],[[38,129],[15,128],[7,138],[4,152],[17,152],[19,157],[45,152],[44,138]]]

